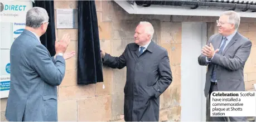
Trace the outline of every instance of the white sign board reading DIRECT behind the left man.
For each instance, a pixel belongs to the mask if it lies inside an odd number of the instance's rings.
[[[1,98],[8,97],[11,70],[10,49],[13,41],[25,28],[26,13],[32,8],[32,1],[1,1],[0,77]]]

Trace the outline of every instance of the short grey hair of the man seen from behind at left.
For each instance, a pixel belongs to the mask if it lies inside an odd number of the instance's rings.
[[[33,7],[27,11],[26,26],[39,28],[42,23],[48,22],[49,16],[46,9],[41,7]]]

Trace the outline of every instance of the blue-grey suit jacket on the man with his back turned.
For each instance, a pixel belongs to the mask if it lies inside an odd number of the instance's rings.
[[[49,51],[33,33],[24,30],[11,46],[11,86],[6,107],[8,121],[57,121],[57,85],[65,74],[65,60]]]

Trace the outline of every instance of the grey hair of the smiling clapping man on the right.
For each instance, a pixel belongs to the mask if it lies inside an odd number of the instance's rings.
[[[221,14],[221,16],[223,15],[229,16],[229,23],[233,23],[235,25],[235,30],[237,30],[240,25],[239,14],[235,11],[225,11]]]

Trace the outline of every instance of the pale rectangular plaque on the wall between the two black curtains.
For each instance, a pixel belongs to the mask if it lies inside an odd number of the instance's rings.
[[[78,28],[78,9],[57,9],[57,28]]]

